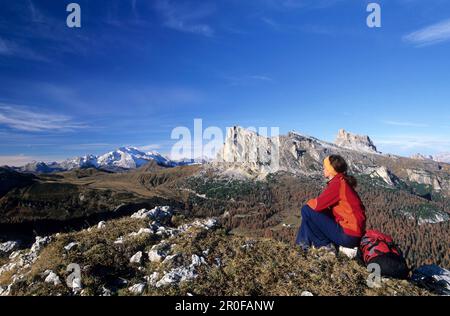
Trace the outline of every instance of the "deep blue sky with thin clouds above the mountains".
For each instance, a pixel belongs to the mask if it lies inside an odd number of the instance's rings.
[[[0,4],[0,164],[170,152],[177,126],[279,126],[383,152],[450,151],[450,3],[362,0]]]

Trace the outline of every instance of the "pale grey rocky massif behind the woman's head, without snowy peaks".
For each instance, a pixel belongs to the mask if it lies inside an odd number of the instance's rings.
[[[368,136],[345,130],[339,131],[332,144],[296,132],[265,137],[236,126],[227,131],[224,146],[211,166],[233,177],[265,179],[277,172],[317,177],[322,175],[323,159],[331,154],[343,156],[350,172],[380,178],[389,186],[409,181],[450,194],[450,176],[439,163],[380,154]]]

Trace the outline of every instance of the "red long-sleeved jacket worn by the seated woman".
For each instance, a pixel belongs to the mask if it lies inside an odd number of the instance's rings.
[[[336,222],[341,225],[344,233],[355,237],[364,235],[366,229],[364,205],[342,173],[331,179],[322,194],[310,200],[308,206],[318,212],[331,208]]]

